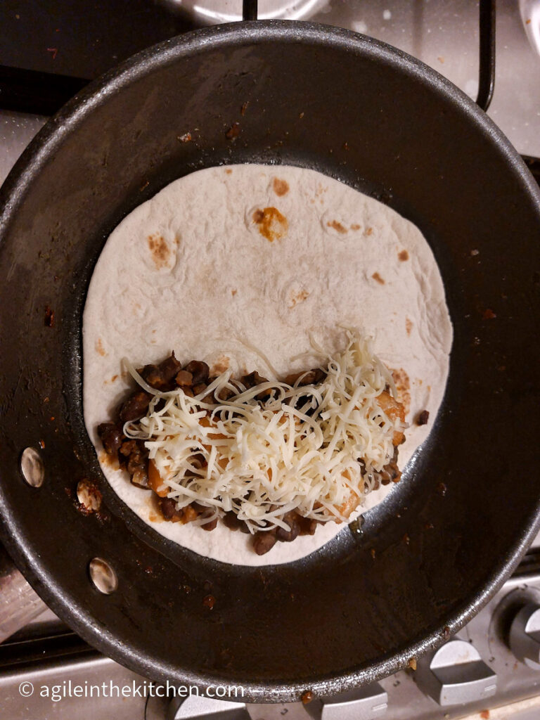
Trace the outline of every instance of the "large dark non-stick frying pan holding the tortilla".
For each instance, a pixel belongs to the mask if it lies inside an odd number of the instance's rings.
[[[81,311],[107,235],[179,176],[248,161],[315,168],[415,222],[454,323],[444,403],[403,482],[359,533],[262,568],[199,557],[133,516],[81,408]],[[444,642],[516,566],[539,526],[539,191],[431,68],[316,24],[189,33],[68,103],[1,200],[1,538],[89,643],[155,680],[243,685],[253,701],[328,695]],[[27,447],[40,487],[22,479]],[[83,477],[102,513],[78,509]],[[94,557],[116,572],[109,595],[90,582]]]

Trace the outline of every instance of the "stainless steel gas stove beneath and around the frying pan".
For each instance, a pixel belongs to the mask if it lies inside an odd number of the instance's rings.
[[[154,42],[205,24],[234,22],[241,9],[240,0],[96,0],[76,9],[67,0],[5,0],[0,7],[0,182],[47,115],[88,81]],[[258,17],[310,20],[371,35],[477,96],[477,3],[259,0],[258,9]],[[538,179],[540,2],[499,2],[496,49],[488,114]],[[354,693],[306,704],[174,697],[170,688],[151,686],[89,647],[19,580],[8,562],[0,562],[0,604],[12,607],[11,625],[0,626],[0,636],[17,628],[18,603],[32,604],[37,615],[0,644],[0,711],[9,720],[76,719],[90,713],[117,720],[540,717],[540,536],[495,598],[437,652]],[[100,692],[85,696],[90,686]]]

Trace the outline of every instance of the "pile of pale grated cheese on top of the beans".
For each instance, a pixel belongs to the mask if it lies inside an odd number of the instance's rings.
[[[372,342],[347,330],[346,343],[333,356],[317,348],[327,373],[317,385],[300,387],[299,378],[246,390],[229,370],[195,397],[181,388],[155,390],[125,360],[154,397],[148,414],[126,423],[124,432],[145,441],[177,508],[196,501],[214,510],[194,523],[231,510],[252,533],[288,530],[282,518],[290,510],[320,522],[346,521],[346,503],[372,489],[394,455],[393,434],[402,429],[377,402],[387,386],[395,396],[395,386]],[[225,388],[235,395],[206,401],[212,392],[225,397]],[[263,391],[273,394],[256,400]]]

